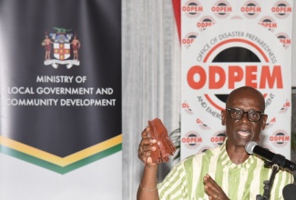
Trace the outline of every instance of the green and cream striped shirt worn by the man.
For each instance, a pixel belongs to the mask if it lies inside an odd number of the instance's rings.
[[[265,180],[270,180],[272,168],[255,155],[240,165],[231,162],[226,143],[205,153],[191,155],[172,168],[164,181],[158,184],[160,199],[209,199],[203,177],[209,174],[231,200],[255,200],[263,195]],[[283,199],[282,189],[293,183],[291,172],[280,170],[274,179],[270,200]]]

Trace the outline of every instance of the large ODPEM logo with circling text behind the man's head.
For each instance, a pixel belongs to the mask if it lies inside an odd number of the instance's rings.
[[[219,40],[221,42],[217,45],[210,45]],[[275,54],[260,37],[233,31],[218,35],[205,48],[209,48],[208,54],[198,54],[197,60],[201,62],[189,68],[187,80],[191,89],[207,88],[204,96],[199,96],[198,99],[200,104],[208,102],[211,105],[209,107],[208,104],[205,108],[211,115],[220,118],[219,112],[213,113],[212,108],[219,111],[224,109],[228,95],[221,94],[221,89],[232,90],[239,83],[259,89],[283,88],[282,67],[272,65],[277,62]],[[262,49],[269,54],[265,54]]]

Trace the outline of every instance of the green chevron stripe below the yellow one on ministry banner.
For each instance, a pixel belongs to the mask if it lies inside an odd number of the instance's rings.
[[[66,174],[70,171],[73,171],[81,166],[84,166],[84,165],[87,165],[87,164],[90,164],[92,162],[95,162],[101,158],[104,158],[108,155],[112,155],[112,154],[115,154],[117,153],[118,151],[121,151],[122,150],[122,144],[118,144],[118,145],[115,145],[115,146],[112,146],[111,148],[108,148],[107,150],[105,151],[102,151],[102,152],[99,152],[95,155],[90,155],[82,160],[79,160],[73,164],[70,164],[70,165],[66,165],[64,167],[62,166],[59,166],[59,165],[55,165],[55,164],[52,164],[50,162],[47,162],[45,160],[42,160],[42,159],[39,159],[39,158],[36,158],[35,156],[32,156],[32,155],[26,155],[24,154],[23,152],[19,152],[19,151],[16,151],[15,149],[12,149],[12,148],[9,148],[9,147],[6,147],[4,145],[0,145],[0,152],[5,154],[5,155],[11,155],[13,157],[16,157],[18,159],[21,159],[21,160],[24,160],[28,163],[31,163],[31,164],[34,164],[34,165],[39,165],[39,166],[42,166],[46,169],[49,169],[51,171],[55,171],[56,173],[59,173],[59,174]]]

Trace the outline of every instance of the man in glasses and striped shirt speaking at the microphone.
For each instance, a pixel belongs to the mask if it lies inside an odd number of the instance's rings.
[[[270,179],[270,167],[255,155],[248,155],[245,145],[258,141],[265,128],[263,95],[252,87],[233,90],[221,123],[226,125],[227,139],[223,145],[205,153],[191,155],[173,167],[161,184],[157,183],[158,165],[151,163],[150,151],[155,139],[142,132],[138,157],[145,163],[138,187],[138,199],[231,199],[255,200],[263,195],[263,181]],[[271,188],[270,199],[283,199],[282,189],[293,182],[291,172],[280,170]],[[158,184],[158,185],[157,185]]]

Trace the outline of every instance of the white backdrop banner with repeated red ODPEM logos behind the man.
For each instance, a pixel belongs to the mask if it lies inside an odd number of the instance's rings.
[[[225,140],[220,112],[242,85],[265,97],[260,145],[291,157],[292,4],[181,1],[181,159]]]

